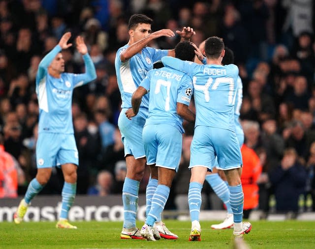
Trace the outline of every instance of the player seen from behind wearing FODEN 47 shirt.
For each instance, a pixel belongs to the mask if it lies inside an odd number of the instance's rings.
[[[209,37],[202,51],[207,64],[199,65],[166,56],[164,65],[187,72],[193,78],[196,122],[190,146],[191,178],[189,184],[189,212],[191,219],[190,241],[198,241],[201,235],[199,213],[201,189],[208,170],[215,164],[224,170],[230,191],[233,212],[234,236],[242,237],[252,229],[243,220],[244,195],[241,185],[242,156],[235,134],[234,103],[238,68],[234,64],[222,65],[224,43],[221,38]]]

